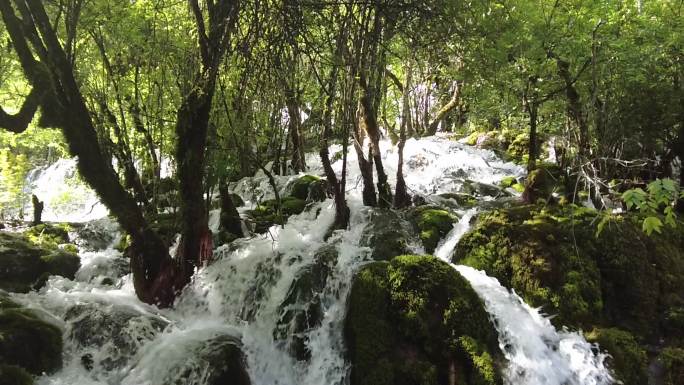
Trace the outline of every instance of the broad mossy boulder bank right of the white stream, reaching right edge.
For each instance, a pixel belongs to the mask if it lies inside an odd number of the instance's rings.
[[[536,205],[484,213],[453,261],[485,270],[556,326],[596,329],[618,378],[645,383],[643,351],[682,346],[684,226],[648,236],[640,218],[616,217],[598,234],[597,215]]]

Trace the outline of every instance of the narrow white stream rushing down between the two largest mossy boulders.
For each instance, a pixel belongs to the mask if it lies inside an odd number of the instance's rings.
[[[580,333],[557,331],[539,309],[534,309],[496,278],[451,256],[466,233],[473,212],[464,215],[447,234],[435,256],[449,263],[482,298],[499,333],[499,347],[508,360],[504,379],[510,385],[608,385],[614,382],[604,366],[605,355],[595,354]]]

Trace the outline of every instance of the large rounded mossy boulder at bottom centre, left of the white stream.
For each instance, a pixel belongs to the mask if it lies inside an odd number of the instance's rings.
[[[496,331],[468,282],[432,256],[374,262],[345,320],[352,385],[501,383]]]

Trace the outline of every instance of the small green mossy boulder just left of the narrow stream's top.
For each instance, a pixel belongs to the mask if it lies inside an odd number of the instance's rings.
[[[419,206],[411,210],[409,219],[419,232],[423,247],[428,253],[435,251],[440,239],[444,238],[458,217],[453,213],[435,206]]]

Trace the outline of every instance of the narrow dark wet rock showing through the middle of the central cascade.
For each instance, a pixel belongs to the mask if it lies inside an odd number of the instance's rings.
[[[311,358],[306,332],[320,326],[323,320],[321,296],[336,261],[336,245],[319,249],[313,262],[294,279],[280,305],[274,338],[285,341],[288,350],[300,361]]]

